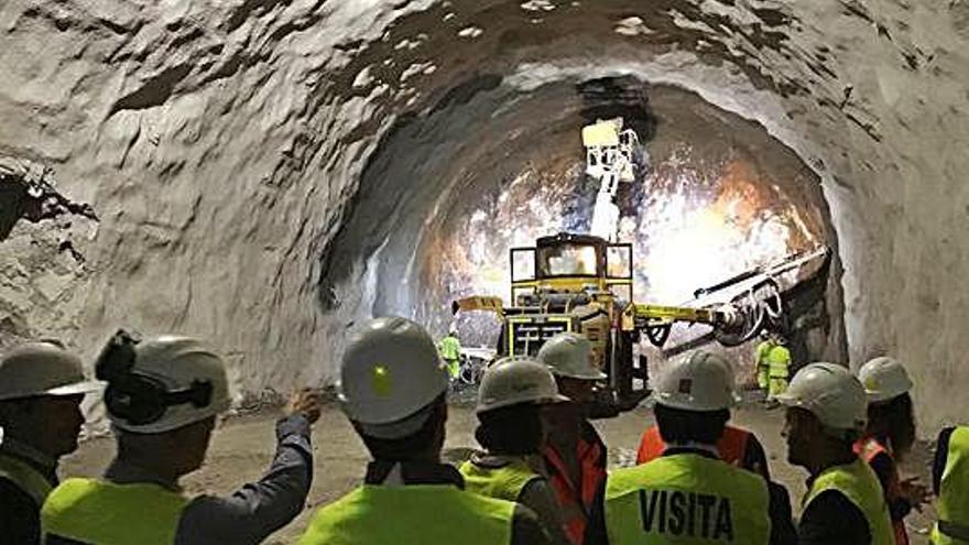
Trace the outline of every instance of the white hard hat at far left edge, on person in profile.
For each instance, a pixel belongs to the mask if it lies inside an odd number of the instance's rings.
[[[0,401],[85,394],[100,388],[100,382],[85,379],[80,358],[54,342],[26,342],[0,359]]]

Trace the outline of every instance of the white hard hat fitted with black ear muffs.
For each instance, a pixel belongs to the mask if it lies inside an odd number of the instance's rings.
[[[111,424],[137,434],[171,432],[216,416],[231,404],[222,359],[192,337],[138,342],[130,367],[107,380],[105,404]]]

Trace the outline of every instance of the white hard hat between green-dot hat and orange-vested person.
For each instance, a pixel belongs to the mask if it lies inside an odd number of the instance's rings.
[[[484,370],[478,388],[478,412],[519,403],[558,403],[568,397],[558,393],[547,366],[527,357],[502,358]]]

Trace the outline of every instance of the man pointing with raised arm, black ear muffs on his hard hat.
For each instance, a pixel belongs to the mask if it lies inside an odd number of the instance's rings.
[[[41,512],[47,545],[260,543],[303,510],[316,394],[301,392],[276,424],[276,454],[258,482],[230,497],[188,498],[178,480],[205,460],[229,408],[225,363],[189,337],[138,340],[119,331],[98,359],[117,457],[101,479],[67,479]]]

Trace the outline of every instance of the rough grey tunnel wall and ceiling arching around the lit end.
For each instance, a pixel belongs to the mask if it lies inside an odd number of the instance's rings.
[[[8,339],[90,356],[119,326],[190,331],[242,392],[327,380],[348,325],[411,301],[389,282],[427,285],[445,212],[500,183],[479,173],[507,141],[564,139],[566,89],[623,75],[759,123],[814,171],[786,195],[837,249],[852,364],[904,359],[923,401],[969,382],[965,1],[8,0],[0,22],[0,155],[92,212],[33,224],[0,193],[20,218],[0,235]],[[519,108],[535,97],[544,117]],[[381,261],[407,252],[423,264]],[[813,353],[843,356],[840,306]]]

